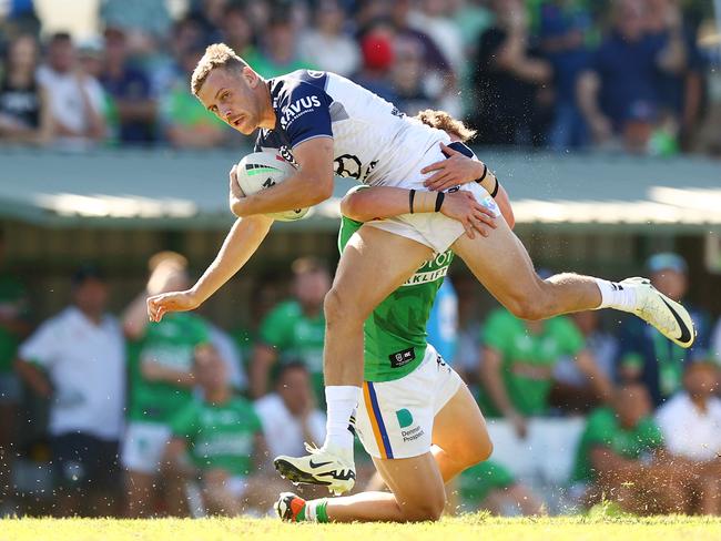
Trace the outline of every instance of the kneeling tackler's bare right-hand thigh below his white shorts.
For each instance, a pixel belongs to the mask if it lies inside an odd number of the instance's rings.
[[[494,446],[486,419],[465,385],[434,418],[431,442],[440,448],[434,455],[446,482],[490,457]]]

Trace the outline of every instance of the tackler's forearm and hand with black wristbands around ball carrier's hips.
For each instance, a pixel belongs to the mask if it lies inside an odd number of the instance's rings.
[[[494,212],[478,203],[470,192],[441,194],[392,186],[355,186],[341,201],[341,213],[356,222],[429,212],[457,220],[470,238],[475,238],[475,231],[487,236],[496,227]]]

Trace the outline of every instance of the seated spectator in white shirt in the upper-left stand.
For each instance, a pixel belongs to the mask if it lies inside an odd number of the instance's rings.
[[[80,68],[69,34],[57,33],[50,39],[48,64],[39,68],[38,81],[48,94],[59,145],[83,149],[105,137],[102,86]]]

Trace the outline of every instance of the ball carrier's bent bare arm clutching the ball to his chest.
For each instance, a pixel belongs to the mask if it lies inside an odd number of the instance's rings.
[[[237,197],[231,211],[238,217],[317,205],[333,195],[333,139],[318,136],[293,147],[297,172],[285,182]],[[237,183],[236,183],[237,184]]]

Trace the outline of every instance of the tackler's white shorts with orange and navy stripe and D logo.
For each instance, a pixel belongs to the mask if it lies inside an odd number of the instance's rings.
[[[375,458],[410,458],[430,450],[433,422],[458,391],[460,376],[428,345],[420,365],[393,381],[364,381],[356,431]]]

